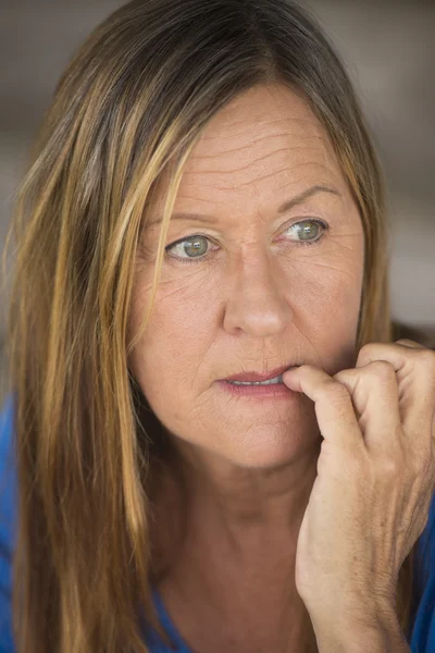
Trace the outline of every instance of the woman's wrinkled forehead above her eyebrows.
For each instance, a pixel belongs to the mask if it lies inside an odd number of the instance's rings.
[[[309,102],[282,85],[258,86],[208,123],[183,173],[176,210],[210,202],[256,212],[316,184],[349,194],[327,133]],[[198,207],[198,202],[203,206]],[[209,207],[210,208],[210,207]]]

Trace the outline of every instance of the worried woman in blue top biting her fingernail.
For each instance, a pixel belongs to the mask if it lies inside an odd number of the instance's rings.
[[[422,646],[435,366],[391,342],[385,220],[297,5],[96,29],[14,221],[8,653]]]

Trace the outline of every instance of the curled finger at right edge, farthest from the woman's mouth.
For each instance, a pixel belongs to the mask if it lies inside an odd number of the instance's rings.
[[[399,412],[405,431],[415,436],[432,431],[435,414],[435,353],[413,341],[370,343],[361,347],[356,367],[386,360],[397,377]]]

